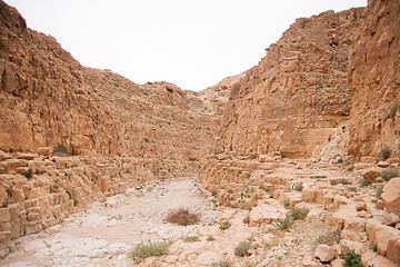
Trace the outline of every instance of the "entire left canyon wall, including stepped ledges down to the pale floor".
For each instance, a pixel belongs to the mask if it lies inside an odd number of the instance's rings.
[[[0,1],[0,258],[91,201],[196,175],[219,98],[81,66]]]

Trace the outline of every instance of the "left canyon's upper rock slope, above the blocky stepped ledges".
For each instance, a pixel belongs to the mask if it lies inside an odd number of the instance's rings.
[[[62,144],[71,155],[198,160],[212,144],[216,115],[197,92],[82,67],[0,8],[1,150]]]

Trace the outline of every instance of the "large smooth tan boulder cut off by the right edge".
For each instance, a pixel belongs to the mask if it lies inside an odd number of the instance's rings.
[[[383,187],[381,195],[388,211],[400,216],[400,178],[390,179]]]

